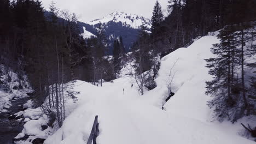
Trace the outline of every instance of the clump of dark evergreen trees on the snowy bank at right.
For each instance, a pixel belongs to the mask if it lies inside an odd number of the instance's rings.
[[[218,35],[220,43],[211,49],[217,57],[206,59],[207,68],[210,68],[209,74],[214,76],[212,81],[206,82],[206,94],[214,97],[208,105],[214,108],[220,119],[228,117],[231,121],[236,121],[251,114],[250,111],[255,106],[248,102],[248,94],[252,92],[250,89],[253,89],[253,84],[248,86],[245,78],[248,77],[245,72],[245,53],[249,51],[246,44],[251,40],[248,37],[252,31],[250,27],[241,23],[226,26]]]

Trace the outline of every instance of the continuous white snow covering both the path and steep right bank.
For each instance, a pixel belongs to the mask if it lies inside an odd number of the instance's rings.
[[[44,143],[86,143],[95,115],[100,129],[97,143],[255,143],[237,134],[238,124],[210,122],[205,81],[211,76],[204,58],[212,57],[210,47],[215,43],[216,36],[202,37],[187,49],[162,58],[158,86],[144,95],[131,87],[130,77],[106,82],[103,87],[75,82],[78,102],[67,104],[62,127]],[[161,108],[172,75],[175,95],[164,105],[165,111]]]

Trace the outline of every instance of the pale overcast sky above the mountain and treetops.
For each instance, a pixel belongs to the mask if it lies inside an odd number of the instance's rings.
[[[159,0],[162,9],[166,9],[168,0]],[[99,19],[114,11],[137,14],[150,18],[156,0],[54,0],[59,9],[68,9],[79,17],[79,21],[88,22]],[[46,10],[51,0],[42,0]]]

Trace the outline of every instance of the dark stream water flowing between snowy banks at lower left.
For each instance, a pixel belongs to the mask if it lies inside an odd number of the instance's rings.
[[[14,113],[23,110],[23,104],[29,100],[29,97],[17,99],[11,101],[11,106],[8,112],[0,113],[0,144],[13,143],[13,138],[17,136],[23,129],[23,121],[17,121],[18,119],[8,119]]]

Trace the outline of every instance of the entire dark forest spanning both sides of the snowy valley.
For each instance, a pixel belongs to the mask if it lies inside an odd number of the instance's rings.
[[[206,59],[210,74],[215,77],[207,82],[206,93],[214,97],[209,105],[215,107],[218,117],[232,121],[244,115],[256,115],[255,76],[245,82],[249,75],[244,73],[245,67],[255,67],[255,63],[244,61],[245,57],[255,54],[252,44],[255,0],[170,0],[168,3],[165,17],[156,1],[151,32],[141,26],[131,53],[125,53],[124,41],[119,37],[114,40],[113,56],[110,56],[112,52],[101,23],[97,26],[97,37],[85,40],[80,35],[77,16],[59,10],[54,2],[45,14],[39,0],[0,0],[0,62],[20,75],[21,71],[27,74],[38,105],[51,95],[47,110],[51,113],[55,107],[62,125],[65,118],[63,83],[83,80],[102,86],[103,80],[117,78],[123,65],[134,59],[133,76],[143,94],[145,87],[156,87],[158,57],[222,29],[218,35],[221,43],[212,48],[217,57]],[[249,41],[250,48],[245,48]],[[4,73],[0,71],[0,75]],[[74,97],[74,92],[68,94]]]

